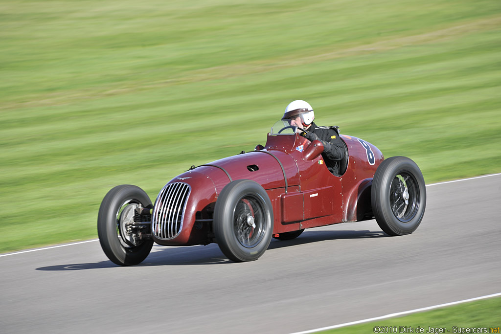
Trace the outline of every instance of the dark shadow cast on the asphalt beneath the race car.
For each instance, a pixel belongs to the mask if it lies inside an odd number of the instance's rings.
[[[308,231],[293,240],[275,240],[272,239],[268,249],[277,249],[290,246],[298,246],[308,243],[337,240],[337,239],[360,239],[360,238],[379,238],[386,237],[387,234],[379,231]],[[104,256],[104,254],[103,254]],[[207,246],[189,246],[189,247],[163,247],[153,246],[152,252],[148,257],[136,267],[158,266],[158,265],[208,265],[234,263],[228,260],[219,250],[217,244]],[[100,261],[95,263],[73,263],[61,264],[36,268],[36,270],[45,271],[67,271],[67,270],[85,270],[85,269],[104,269],[119,267],[111,261]]]

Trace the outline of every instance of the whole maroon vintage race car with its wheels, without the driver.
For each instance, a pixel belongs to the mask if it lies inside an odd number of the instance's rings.
[[[263,255],[272,237],[293,239],[305,228],[373,218],[389,235],[418,227],[426,188],[412,160],[385,160],[374,145],[342,135],[346,155],[338,177],[324,163],[322,143],[298,132],[278,121],[264,147],[192,166],[170,180],[153,205],[137,186],[114,187],[98,214],[105,254],[133,265],[148,256],[153,242],[216,242],[227,258],[242,262]]]

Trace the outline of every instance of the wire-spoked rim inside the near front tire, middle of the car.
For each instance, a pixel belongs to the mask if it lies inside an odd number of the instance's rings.
[[[253,248],[263,239],[266,232],[263,202],[253,196],[241,197],[233,212],[233,232],[236,240],[246,247]]]

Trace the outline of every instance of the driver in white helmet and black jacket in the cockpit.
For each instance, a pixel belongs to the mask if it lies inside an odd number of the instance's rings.
[[[285,108],[283,120],[288,119],[292,126],[297,126],[298,133],[310,141],[319,140],[324,145],[322,157],[329,171],[336,175],[341,176],[339,173],[340,161],[345,158],[346,149],[344,143],[339,138],[339,127],[337,126],[317,126],[313,120],[315,113],[312,106],[306,101],[296,100]]]

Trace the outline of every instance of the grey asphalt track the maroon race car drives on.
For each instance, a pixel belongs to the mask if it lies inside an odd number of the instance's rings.
[[[500,292],[501,175],[427,195],[411,235],[332,225],[248,263],[216,244],[154,246],[132,267],[97,241],[3,255],[0,332],[291,333]]]

